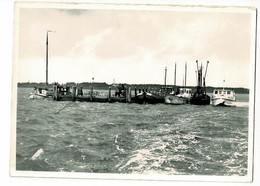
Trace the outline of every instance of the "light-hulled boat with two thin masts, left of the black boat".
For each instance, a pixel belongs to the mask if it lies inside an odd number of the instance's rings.
[[[177,88],[177,90],[165,96],[165,103],[172,105],[183,105],[190,101],[191,98],[191,89],[186,88],[186,79],[187,79],[187,63],[185,63],[185,83],[184,87]],[[175,63],[175,73],[174,73],[174,87],[176,87],[176,63]]]

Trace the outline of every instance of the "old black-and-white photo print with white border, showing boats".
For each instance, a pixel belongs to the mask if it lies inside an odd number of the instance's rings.
[[[11,175],[252,181],[256,12],[16,2]]]

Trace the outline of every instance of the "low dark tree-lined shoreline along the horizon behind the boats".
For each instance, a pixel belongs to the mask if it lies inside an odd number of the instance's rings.
[[[82,82],[82,83],[74,83],[74,82],[67,82],[64,83],[63,85],[65,86],[77,86],[77,87],[83,87],[86,89],[89,89],[91,86],[93,86],[94,89],[96,90],[106,90],[109,89],[110,86],[112,86],[113,84],[107,84],[105,82]],[[161,87],[164,87],[164,85],[160,85],[160,84],[126,84],[124,83],[124,85],[126,86],[130,86],[131,89],[160,89]],[[18,83],[18,87],[24,87],[24,88],[34,88],[34,87],[46,87],[45,83],[41,82],[41,83],[36,83],[36,82],[19,82]],[[53,83],[48,85],[48,88],[52,88],[53,87]],[[167,87],[174,87],[173,85],[167,85]],[[183,87],[183,86],[179,86],[177,85],[176,88],[178,87]],[[175,88],[175,87],[174,87]],[[196,89],[196,86],[187,86],[187,88],[191,88],[192,90]],[[212,93],[213,90],[215,88],[223,88],[223,87],[212,87],[212,86],[207,86],[206,90],[208,93]],[[247,88],[233,88],[233,87],[225,87],[226,89],[233,89],[236,93],[240,93],[240,94],[249,94],[249,89]]]

